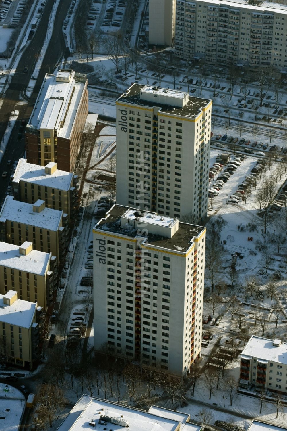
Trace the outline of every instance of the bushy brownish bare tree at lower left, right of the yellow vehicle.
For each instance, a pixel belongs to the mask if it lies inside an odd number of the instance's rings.
[[[63,390],[52,384],[43,384],[36,396],[37,413],[39,422],[49,423],[52,428],[52,422],[59,419],[60,412],[66,406]]]

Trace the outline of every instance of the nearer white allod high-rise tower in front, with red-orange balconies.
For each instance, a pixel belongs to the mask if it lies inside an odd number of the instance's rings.
[[[95,350],[186,375],[201,353],[205,228],[116,204],[93,244]]]

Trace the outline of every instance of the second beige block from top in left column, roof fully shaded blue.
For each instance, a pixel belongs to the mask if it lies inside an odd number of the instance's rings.
[[[21,245],[33,244],[34,250],[51,253],[57,262],[68,247],[68,215],[45,208],[44,200],[34,204],[7,196],[0,211],[0,241]]]

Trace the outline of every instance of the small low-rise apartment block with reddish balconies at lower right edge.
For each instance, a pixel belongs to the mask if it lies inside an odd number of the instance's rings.
[[[252,335],[241,353],[240,385],[287,394],[287,343]]]

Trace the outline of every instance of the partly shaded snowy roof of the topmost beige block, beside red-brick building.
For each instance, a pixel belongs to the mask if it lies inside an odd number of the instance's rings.
[[[50,167],[50,163],[48,163],[46,166]],[[16,170],[13,174],[13,181],[15,183],[19,183],[19,181],[25,181],[63,191],[68,191],[70,189],[72,179],[72,172],[65,172],[56,169],[55,172],[46,174],[45,168],[43,166],[28,163],[26,159],[19,160]]]

